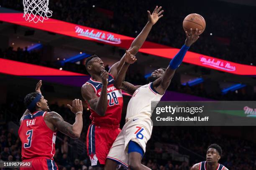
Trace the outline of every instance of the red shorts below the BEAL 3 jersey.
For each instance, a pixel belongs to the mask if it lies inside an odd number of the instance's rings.
[[[36,157],[31,159],[26,159],[22,161],[23,163],[30,162],[31,168],[20,168],[20,170],[58,170],[58,167],[54,160],[47,157]]]

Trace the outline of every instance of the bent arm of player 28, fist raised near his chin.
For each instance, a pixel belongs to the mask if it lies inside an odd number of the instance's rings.
[[[102,88],[100,92],[100,97],[95,94],[93,87],[90,84],[84,84],[81,88],[82,97],[90,105],[92,110],[94,110],[98,115],[104,116],[108,107],[108,72],[102,70]]]

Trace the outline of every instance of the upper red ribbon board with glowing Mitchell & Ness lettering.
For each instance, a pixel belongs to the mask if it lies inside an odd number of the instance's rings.
[[[84,40],[101,42],[104,44],[118,46],[124,49],[128,49],[131,45],[131,42],[134,40],[133,37],[115,34],[113,32],[107,32],[77,24],[67,23],[52,18],[49,18],[49,20],[44,20],[44,23],[29,23],[23,18],[23,13],[1,13],[0,21],[54,32],[57,34],[67,35]],[[179,49],[177,48],[148,41],[146,41],[139,50],[139,52],[144,52],[146,54],[156,55],[169,59],[172,59],[178,51]],[[241,58],[242,57],[243,56],[241,56]],[[187,52],[183,61],[190,64],[199,65],[202,67],[207,67],[223,72],[229,72],[237,75],[256,75],[256,66],[243,65],[236,62],[221,60],[215,57],[210,57],[195,52]]]

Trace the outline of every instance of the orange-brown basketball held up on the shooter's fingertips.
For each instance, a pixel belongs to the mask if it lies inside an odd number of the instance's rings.
[[[201,31],[202,34],[205,31],[206,23],[205,19],[199,14],[189,14],[183,20],[183,29],[190,32],[190,28],[192,28],[192,34],[195,34],[195,30]]]

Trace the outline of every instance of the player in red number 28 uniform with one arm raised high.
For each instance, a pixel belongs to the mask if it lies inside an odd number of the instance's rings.
[[[148,23],[133,40],[128,52],[135,55],[146,40],[152,26],[164,11],[156,6],[152,15],[148,11]],[[124,55],[125,56],[125,55]],[[123,107],[121,90],[115,88],[115,77],[123,65],[124,56],[109,70],[105,71],[103,61],[93,55],[86,61],[86,69],[91,75],[81,89],[82,96],[91,110],[92,124],[87,133],[87,154],[92,166],[105,165],[108,152],[120,133],[119,123]],[[125,91],[129,92],[129,89]]]

